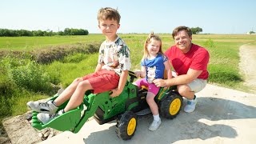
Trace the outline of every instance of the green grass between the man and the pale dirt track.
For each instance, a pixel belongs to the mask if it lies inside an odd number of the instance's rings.
[[[236,90],[248,90],[242,84],[243,75],[238,67],[239,47],[256,42],[254,35],[196,35],[194,41],[210,52],[210,83]]]

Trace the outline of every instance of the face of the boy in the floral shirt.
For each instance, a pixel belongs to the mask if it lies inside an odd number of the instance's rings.
[[[114,38],[117,34],[120,24],[114,19],[105,19],[98,22],[98,28],[107,38]]]

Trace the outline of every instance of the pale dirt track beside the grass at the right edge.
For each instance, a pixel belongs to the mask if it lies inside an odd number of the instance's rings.
[[[240,47],[239,67],[244,74],[245,85],[250,86],[250,92],[256,93],[256,46],[250,44]]]

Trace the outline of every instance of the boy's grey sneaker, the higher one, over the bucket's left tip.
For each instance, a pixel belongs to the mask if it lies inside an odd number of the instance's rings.
[[[47,114],[55,114],[58,110],[58,107],[54,105],[52,101],[48,102],[27,102],[27,106],[30,109],[37,111],[38,113],[47,113]]]

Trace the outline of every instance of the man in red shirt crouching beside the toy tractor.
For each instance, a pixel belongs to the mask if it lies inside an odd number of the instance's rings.
[[[206,86],[210,55],[205,48],[192,43],[192,31],[189,27],[178,26],[172,36],[175,45],[166,50],[165,54],[177,76],[170,79],[155,79],[153,82],[158,87],[176,85],[178,93],[187,98],[184,111],[190,113],[194,111],[197,103],[194,94]]]

